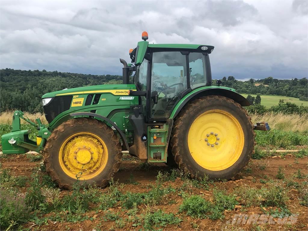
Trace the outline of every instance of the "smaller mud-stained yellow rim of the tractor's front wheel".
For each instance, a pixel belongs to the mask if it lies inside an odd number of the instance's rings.
[[[59,163],[70,177],[89,180],[106,167],[108,151],[105,142],[93,133],[79,132],[61,144]]]

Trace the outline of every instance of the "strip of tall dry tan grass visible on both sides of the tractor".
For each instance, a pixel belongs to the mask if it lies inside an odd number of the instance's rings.
[[[0,124],[11,124],[12,116],[14,111],[5,111],[0,114]],[[32,121],[36,118],[40,118],[43,124],[48,124],[45,115],[42,113],[30,114],[25,112],[25,115]],[[308,114],[298,115],[298,114],[283,114],[283,113],[273,113],[267,112],[264,115],[251,114],[251,121],[253,124],[256,122],[268,122],[270,128],[278,129],[282,131],[293,131],[293,132],[305,132],[308,131]],[[21,120],[21,123],[26,123]]]

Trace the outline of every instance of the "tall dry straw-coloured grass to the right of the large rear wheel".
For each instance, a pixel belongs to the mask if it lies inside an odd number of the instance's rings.
[[[308,131],[308,114],[283,114],[267,112],[264,115],[252,114],[251,121],[256,122],[268,122],[270,128],[278,129],[282,131],[292,132],[306,132]]]

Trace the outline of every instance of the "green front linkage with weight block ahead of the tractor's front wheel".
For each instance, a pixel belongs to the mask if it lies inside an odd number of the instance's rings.
[[[30,130],[21,130],[20,119],[33,125],[39,131],[36,142],[29,139]],[[51,132],[41,120],[35,119],[36,123],[29,120],[22,111],[15,111],[13,115],[12,130],[10,133],[1,136],[3,154],[24,154],[33,150],[43,153],[46,140]]]

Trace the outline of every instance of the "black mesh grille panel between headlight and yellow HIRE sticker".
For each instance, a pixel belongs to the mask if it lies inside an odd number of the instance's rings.
[[[70,109],[72,98],[72,95],[54,97],[49,103],[43,106],[45,117],[49,124],[57,115]]]

